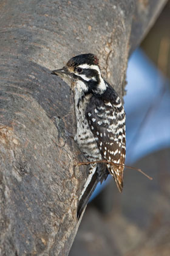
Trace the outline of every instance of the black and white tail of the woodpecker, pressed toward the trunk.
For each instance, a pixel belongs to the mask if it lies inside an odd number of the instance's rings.
[[[106,169],[106,166],[100,164],[90,165],[89,176],[87,177],[86,183],[84,185],[83,191],[79,197],[78,208],[77,208],[77,220],[80,219],[81,214],[83,213],[84,208],[87,205],[87,202],[90,199],[90,196],[97,187],[98,182],[103,182],[106,180],[109,172]]]

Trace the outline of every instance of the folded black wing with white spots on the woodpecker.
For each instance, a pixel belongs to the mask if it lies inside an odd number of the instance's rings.
[[[118,190],[123,190],[123,170],[126,155],[125,113],[120,98],[117,102],[92,97],[86,118],[94,134],[101,156],[108,162],[107,169],[114,177]]]

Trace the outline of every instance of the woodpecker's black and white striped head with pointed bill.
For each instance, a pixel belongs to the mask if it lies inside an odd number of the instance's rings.
[[[81,54],[70,59],[66,66],[52,71],[60,76],[74,90],[84,93],[103,93],[106,90],[97,57],[94,54]]]

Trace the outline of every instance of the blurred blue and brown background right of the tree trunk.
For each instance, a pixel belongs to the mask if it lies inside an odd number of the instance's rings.
[[[69,256],[170,255],[170,1],[129,59],[126,165],[115,182],[98,186]]]

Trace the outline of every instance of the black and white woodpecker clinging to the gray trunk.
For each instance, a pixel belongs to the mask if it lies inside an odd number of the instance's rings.
[[[81,192],[77,218],[86,206],[98,182],[114,177],[118,190],[123,190],[123,170],[126,156],[126,115],[118,93],[101,76],[99,61],[94,54],[81,54],[61,69],[52,71],[73,91],[78,148],[91,163]]]

